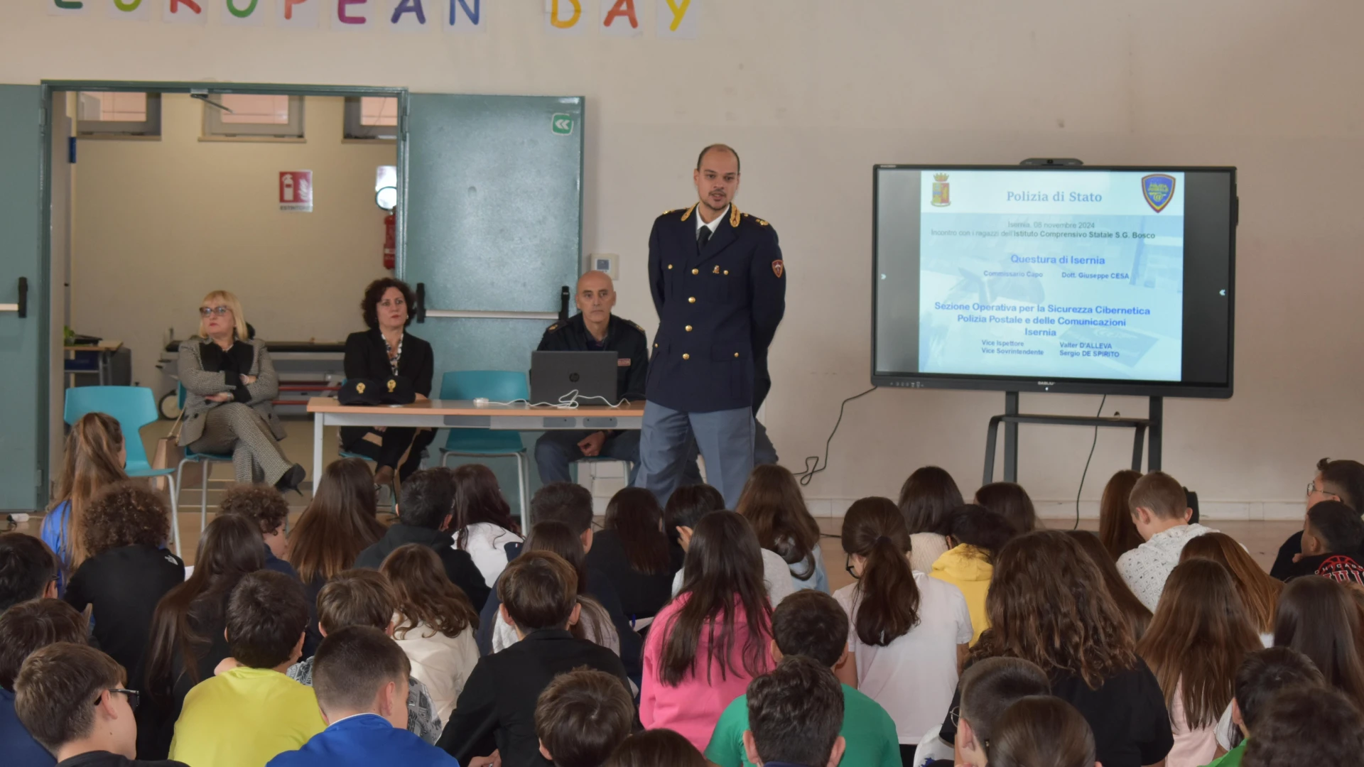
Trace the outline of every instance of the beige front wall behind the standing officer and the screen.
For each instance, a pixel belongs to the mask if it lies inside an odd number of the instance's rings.
[[[1316,459],[1364,454],[1354,298],[1364,278],[1364,5],[1352,0],[711,0],[697,41],[548,37],[532,0],[484,0],[491,30],[476,37],[110,27],[49,18],[41,5],[8,11],[0,81],[587,96],[584,248],[622,255],[619,313],[648,329],[649,224],[694,199],[700,146],[735,145],[738,202],[772,221],[790,270],[768,422],[795,468],[822,450],[839,401],[868,386],[873,164],[1042,156],[1237,165],[1236,397],[1168,401],[1165,467],[1210,512],[1293,516]],[[652,3],[640,5],[652,30]],[[1097,405],[1023,399],[1024,411]],[[1109,405],[1144,412],[1140,400]],[[1001,407],[998,393],[876,392],[848,405],[832,467],[807,493],[836,510],[893,494],[925,463],[970,491],[986,419]],[[1090,431],[1023,433],[1020,474],[1034,497],[1073,498]],[[1128,452],[1129,433],[1099,435],[1086,498]]]

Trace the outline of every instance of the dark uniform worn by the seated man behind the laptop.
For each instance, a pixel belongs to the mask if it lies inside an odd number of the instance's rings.
[[[617,397],[625,400],[642,400],[645,378],[649,370],[649,338],[644,329],[619,317],[611,315],[607,323],[606,337],[600,341],[592,337],[581,314],[551,325],[540,338],[542,352],[617,352],[618,366],[615,377]],[[546,431],[535,442],[535,463],[540,471],[540,480],[572,482],[569,464],[582,460],[582,449],[578,442],[595,431]],[[636,430],[608,431],[606,442],[602,444],[600,457],[630,461],[638,469],[640,465],[640,433]],[[693,464],[694,465],[694,464]],[[700,482],[700,471],[696,471]],[[633,480],[633,472],[630,479]]]

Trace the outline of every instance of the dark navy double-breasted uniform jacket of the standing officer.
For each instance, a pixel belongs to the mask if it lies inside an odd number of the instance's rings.
[[[749,408],[786,313],[776,232],[730,207],[704,248],[696,206],[659,216],[649,235],[649,292],[659,332],[648,400],[686,412]]]

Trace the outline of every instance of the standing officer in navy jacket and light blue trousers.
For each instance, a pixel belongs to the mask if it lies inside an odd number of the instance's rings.
[[[694,435],[732,509],[753,469],[756,378],[786,311],[786,267],[772,227],[732,202],[738,153],[702,149],[693,180],[700,202],[664,213],[649,235],[659,332],[636,484],[666,504]]]

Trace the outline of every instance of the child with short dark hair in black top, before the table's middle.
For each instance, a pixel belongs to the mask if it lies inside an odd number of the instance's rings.
[[[420,543],[435,550],[450,583],[469,596],[475,610],[488,599],[488,585],[468,551],[454,546],[450,521],[454,519],[454,472],[436,467],[413,474],[402,484],[398,521],[355,560],[355,566],[379,569],[385,557],[405,543]]]

